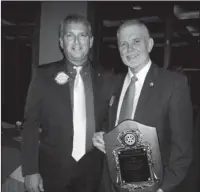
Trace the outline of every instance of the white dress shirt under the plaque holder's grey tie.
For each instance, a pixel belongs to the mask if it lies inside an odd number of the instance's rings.
[[[135,115],[135,111],[136,111],[136,107],[137,107],[137,103],[140,97],[140,93],[144,84],[144,80],[146,78],[146,75],[149,71],[151,67],[151,60],[149,60],[149,62],[138,72],[135,74],[135,76],[137,77],[137,81],[135,82],[135,97],[134,97],[134,102],[133,102],[133,112],[132,112],[132,118],[134,118]],[[121,95],[119,98],[119,104],[118,104],[118,108],[117,108],[117,118],[115,121],[115,126],[117,126],[118,121],[119,121],[119,114],[120,114],[120,110],[121,110],[121,106],[122,106],[122,101],[124,99],[124,95],[126,93],[126,90],[130,84],[131,78],[133,76],[133,73],[131,72],[130,68],[128,68],[128,73],[125,77],[124,80],[124,84],[123,84],[123,88],[121,91]]]

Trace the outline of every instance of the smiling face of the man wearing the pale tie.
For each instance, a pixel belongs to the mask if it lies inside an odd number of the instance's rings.
[[[83,23],[69,23],[65,26],[64,36],[60,37],[60,45],[64,54],[72,64],[80,66],[87,61],[93,37]]]

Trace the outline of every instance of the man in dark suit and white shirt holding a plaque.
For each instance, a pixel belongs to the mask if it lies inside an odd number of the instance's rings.
[[[192,104],[187,79],[151,61],[153,39],[141,22],[124,22],[117,39],[128,73],[115,81],[118,86],[110,103],[107,131],[126,119],[155,127],[164,165],[164,178],[156,192],[171,192],[184,179],[192,161]],[[103,134],[96,133],[93,142],[105,152]],[[108,180],[104,172],[102,192],[113,190]]]

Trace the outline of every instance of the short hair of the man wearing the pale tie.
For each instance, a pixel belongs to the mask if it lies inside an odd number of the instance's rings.
[[[92,27],[90,22],[82,15],[79,14],[70,14],[61,22],[59,29],[59,36],[63,37],[65,34],[65,27],[70,23],[82,23],[88,28],[89,36],[92,36]]]

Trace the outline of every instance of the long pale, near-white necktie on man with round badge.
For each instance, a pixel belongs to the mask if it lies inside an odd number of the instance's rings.
[[[73,104],[73,150],[72,157],[79,161],[86,151],[86,106],[83,79],[80,75],[81,67],[76,67],[74,80]]]

